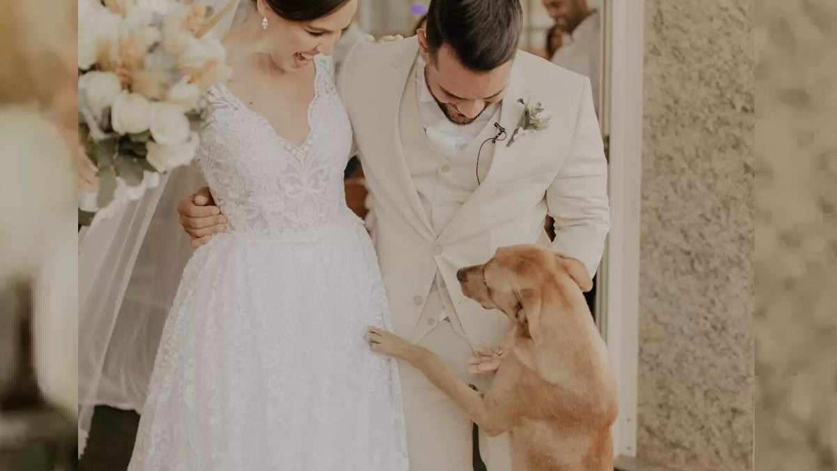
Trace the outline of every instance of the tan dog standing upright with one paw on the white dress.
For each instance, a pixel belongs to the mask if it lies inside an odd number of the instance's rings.
[[[515,471],[611,471],[616,380],[584,301],[581,262],[540,246],[498,250],[457,274],[465,296],[516,324],[491,390],[481,395],[437,355],[371,329],[372,350],[406,360],[492,436],[511,431]]]

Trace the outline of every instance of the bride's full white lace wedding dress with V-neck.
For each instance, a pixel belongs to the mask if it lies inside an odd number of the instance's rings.
[[[400,380],[362,221],[352,127],[318,56],[301,148],[223,87],[198,164],[229,229],[195,251],[163,329],[131,471],[407,471]]]

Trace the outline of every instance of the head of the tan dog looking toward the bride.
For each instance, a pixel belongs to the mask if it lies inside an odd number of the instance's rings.
[[[555,289],[551,281],[569,278],[583,292],[593,288],[587,269],[574,258],[542,246],[501,247],[482,265],[456,273],[462,292],[486,309],[499,309],[528,332],[536,345],[543,343],[543,293]]]

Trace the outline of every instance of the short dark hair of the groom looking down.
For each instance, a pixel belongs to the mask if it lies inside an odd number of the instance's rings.
[[[427,12],[431,58],[448,44],[462,65],[480,72],[514,59],[522,29],[520,0],[432,0]]]

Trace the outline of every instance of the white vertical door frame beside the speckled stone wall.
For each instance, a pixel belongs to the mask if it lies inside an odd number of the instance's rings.
[[[614,455],[636,456],[639,202],[642,177],[644,0],[606,0],[603,132],[609,147],[611,230],[597,317],[619,382]]]

